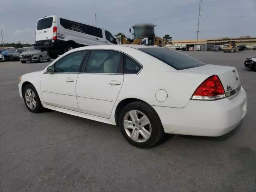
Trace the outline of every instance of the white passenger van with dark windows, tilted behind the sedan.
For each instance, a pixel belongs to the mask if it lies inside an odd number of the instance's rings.
[[[118,44],[106,29],[79,23],[59,16],[45,16],[36,23],[35,48],[47,49],[51,58],[57,58],[73,48]]]

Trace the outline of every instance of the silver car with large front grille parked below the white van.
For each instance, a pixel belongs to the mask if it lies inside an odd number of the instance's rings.
[[[22,63],[26,63],[27,61],[37,61],[42,63],[43,60],[51,61],[47,51],[35,49],[34,47],[29,47],[26,51],[20,54],[20,62]]]

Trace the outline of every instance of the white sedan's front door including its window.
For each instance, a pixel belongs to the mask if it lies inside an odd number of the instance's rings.
[[[87,53],[87,50],[72,52],[53,64],[54,72],[44,72],[41,92],[46,104],[80,112],[76,102],[76,80]]]

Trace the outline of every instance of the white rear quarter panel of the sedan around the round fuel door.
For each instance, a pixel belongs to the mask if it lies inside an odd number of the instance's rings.
[[[128,53],[128,52],[127,52]],[[188,104],[196,88],[210,74],[176,70],[164,62],[138,50],[129,50],[143,68],[137,75],[124,74],[124,83],[117,102],[126,98],[137,98],[154,106],[183,108]],[[167,92],[166,101],[156,100],[156,92],[163,89]]]

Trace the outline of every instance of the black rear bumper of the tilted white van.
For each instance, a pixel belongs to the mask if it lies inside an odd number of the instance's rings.
[[[36,41],[34,44],[35,48],[47,49],[51,51],[63,51],[66,45],[66,41],[63,40],[41,40]]]

